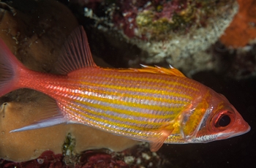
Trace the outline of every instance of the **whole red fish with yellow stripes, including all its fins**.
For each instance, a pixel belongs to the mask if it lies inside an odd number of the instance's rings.
[[[225,96],[173,66],[97,66],[82,26],[64,43],[56,63],[59,74],[26,68],[1,39],[0,61],[0,96],[31,88],[52,98],[34,123],[10,131],[12,134],[79,123],[148,142],[150,150],[157,151],[164,143],[212,142],[250,130]]]

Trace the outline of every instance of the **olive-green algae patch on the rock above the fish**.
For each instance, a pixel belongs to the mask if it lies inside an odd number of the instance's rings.
[[[136,17],[138,36],[151,40],[170,39],[170,32],[184,34],[192,26],[206,26],[208,18],[214,17],[216,10],[227,2],[187,1],[181,3],[181,9],[176,9],[171,15],[161,14],[165,8],[162,5],[142,10]]]

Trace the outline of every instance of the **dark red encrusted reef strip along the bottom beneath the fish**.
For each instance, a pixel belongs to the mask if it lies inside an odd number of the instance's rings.
[[[164,156],[151,153],[148,145],[141,143],[135,148],[122,152],[111,152],[110,150],[87,150],[77,154],[72,162],[67,163],[65,156],[54,154],[47,150],[37,159],[23,162],[12,162],[0,159],[1,167],[76,167],[76,168],[136,168],[136,167],[162,167],[169,163]]]

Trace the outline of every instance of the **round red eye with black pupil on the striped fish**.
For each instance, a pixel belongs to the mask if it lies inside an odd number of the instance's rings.
[[[212,120],[212,128],[215,131],[223,131],[233,125],[235,118],[235,112],[231,110],[218,112]]]

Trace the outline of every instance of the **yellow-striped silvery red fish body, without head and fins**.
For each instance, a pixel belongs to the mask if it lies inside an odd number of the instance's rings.
[[[26,79],[23,88],[56,99],[69,120],[137,140],[174,121],[206,92],[204,85],[187,77],[119,69],[85,68],[65,78],[36,73],[29,77],[33,81]]]

